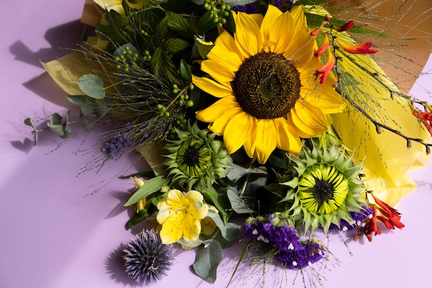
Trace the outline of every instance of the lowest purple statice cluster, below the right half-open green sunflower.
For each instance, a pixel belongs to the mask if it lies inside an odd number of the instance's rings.
[[[322,244],[315,241],[306,240],[302,242],[299,249],[291,251],[279,251],[275,257],[286,265],[289,269],[305,268],[313,265],[324,258],[325,249]]]

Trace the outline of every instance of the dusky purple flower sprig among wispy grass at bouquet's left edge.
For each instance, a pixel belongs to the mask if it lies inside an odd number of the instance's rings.
[[[112,159],[116,159],[127,148],[133,148],[138,144],[138,139],[142,140],[150,135],[144,128],[137,128],[128,122],[115,132],[102,149]]]

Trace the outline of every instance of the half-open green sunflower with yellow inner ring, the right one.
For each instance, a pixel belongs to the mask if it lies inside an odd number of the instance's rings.
[[[305,231],[322,227],[327,233],[332,223],[340,227],[342,219],[353,223],[350,212],[361,211],[366,204],[359,176],[362,165],[353,164],[352,157],[336,146],[312,144],[312,149],[302,148],[299,157],[288,155],[295,163],[295,177],[279,183],[293,188],[282,202],[291,203],[290,211],[296,222],[304,223]]]

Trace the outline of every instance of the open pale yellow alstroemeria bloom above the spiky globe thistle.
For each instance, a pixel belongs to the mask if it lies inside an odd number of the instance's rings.
[[[208,213],[208,205],[203,203],[202,193],[190,190],[186,194],[177,189],[157,204],[156,220],[162,225],[160,232],[164,244],[177,242],[180,238],[195,241],[201,233],[201,220]]]

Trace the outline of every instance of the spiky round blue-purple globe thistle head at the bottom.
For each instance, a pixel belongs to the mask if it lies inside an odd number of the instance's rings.
[[[175,260],[173,245],[163,244],[159,233],[145,230],[126,244],[124,267],[128,276],[139,284],[148,285],[166,275]]]

